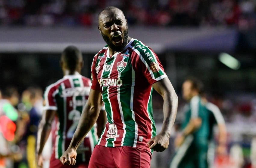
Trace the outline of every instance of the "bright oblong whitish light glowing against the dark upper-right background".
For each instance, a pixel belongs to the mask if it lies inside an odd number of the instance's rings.
[[[232,57],[227,53],[220,53],[219,60],[227,67],[237,70],[240,68],[240,62],[236,58]]]

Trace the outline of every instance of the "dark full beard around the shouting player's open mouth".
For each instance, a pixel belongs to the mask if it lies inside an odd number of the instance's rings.
[[[124,50],[124,48],[128,44],[128,28],[125,29],[123,32],[123,44],[121,44],[120,46],[115,46],[112,43],[112,40],[110,38],[108,38],[107,35],[104,35],[102,32],[101,32],[101,35],[102,35],[104,41],[108,44],[108,47],[110,47],[113,51],[121,52]]]

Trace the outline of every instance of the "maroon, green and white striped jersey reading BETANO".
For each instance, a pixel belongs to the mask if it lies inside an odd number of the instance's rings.
[[[108,46],[95,55],[91,88],[101,89],[108,119],[98,145],[149,150],[156,135],[151,85],[165,77],[158,56],[136,39],[112,57]]]

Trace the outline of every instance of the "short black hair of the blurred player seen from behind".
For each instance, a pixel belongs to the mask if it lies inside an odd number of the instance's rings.
[[[70,45],[62,52],[61,60],[67,65],[70,71],[75,71],[78,64],[83,60],[83,56],[77,47]]]

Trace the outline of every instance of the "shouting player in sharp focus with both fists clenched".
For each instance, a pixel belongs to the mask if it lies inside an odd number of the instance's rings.
[[[60,160],[75,164],[77,148],[95,123],[102,104],[108,122],[90,159],[90,168],[150,167],[152,151],[164,151],[176,118],[178,98],[154,51],[128,36],[127,21],[116,7],[98,14],[107,43],[94,57],[92,86],[72,141]],[[164,99],[164,121],[156,135],[153,88]]]

